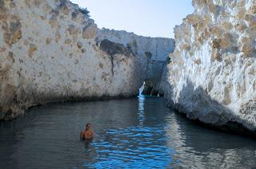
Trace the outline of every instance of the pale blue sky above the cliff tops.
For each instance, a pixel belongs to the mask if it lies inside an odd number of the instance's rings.
[[[174,26],[194,11],[192,0],[71,0],[90,11],[98,27],[146,37],[174,37]]]

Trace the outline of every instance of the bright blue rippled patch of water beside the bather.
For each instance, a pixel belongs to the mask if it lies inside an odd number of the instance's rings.
[[[84,163],[84,166],[165,167],[170,163],[171,156],[168,153],[168,147],[163,146],[162,141],[164,140],[160,139],[164,135],[160,128],[132,126],[108,129],[105,134],[107,140],[95,140],[92,143],[98,150],[97,162]]]

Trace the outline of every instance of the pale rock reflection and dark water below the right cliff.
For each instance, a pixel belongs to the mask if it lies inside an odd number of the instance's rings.
[[[172,167],[192,168],[251,168],[256,166],[254,140],[234,136],[195,125],[184,117],[171,113],[166,116],[167,147]]]

